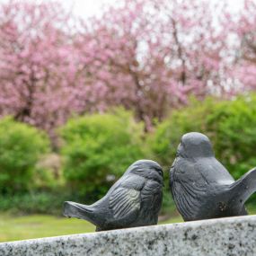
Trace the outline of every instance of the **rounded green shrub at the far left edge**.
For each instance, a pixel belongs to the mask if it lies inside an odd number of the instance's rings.
[[[0,120],[0,192],[29,190],[40,156],[49,151],[49,139],[40,130],[12,118]]]

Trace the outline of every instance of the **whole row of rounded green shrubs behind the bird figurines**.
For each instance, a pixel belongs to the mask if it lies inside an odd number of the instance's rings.
[[[59,128],[56,173],[50,165],[40,163],[42,156],[51,157],[45,154],[49,152],[46,135],[11,118],[2,119],[1,191],[19,194],[1,199],[0,209],[58,215],[64,200],[91,203],[100,199],[131,163],[148,158],[165,171],[163,213],[170,214],[175,207],[169,191],[169,169],[181,136],[191,131],[206,134],[216,158],[237,179],[256,165],[255,127],[255,94],[233,101],[191,99],[188,107],[172,111],[151,133],[146,133],[127,110],[85,115]]]

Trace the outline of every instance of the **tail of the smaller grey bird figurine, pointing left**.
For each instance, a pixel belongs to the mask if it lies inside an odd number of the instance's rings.
[[[90,221],[94,225],[94,214],[93,208],[90,206],[85,206],[71,201],[64,202],[63,215],[67,217],[77,217]]]

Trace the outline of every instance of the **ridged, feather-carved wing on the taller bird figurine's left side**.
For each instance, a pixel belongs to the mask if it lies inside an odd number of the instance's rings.
[[[202,186],[200,174],[191,170],[194,168],[192,164],[187,166],[187,163],[177,162],[170,170],[172,198],[184,220],[191,220],[200,210],[200,199],[206,192],[206,186]]]

